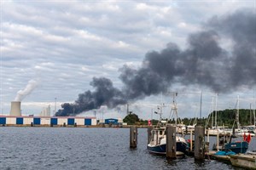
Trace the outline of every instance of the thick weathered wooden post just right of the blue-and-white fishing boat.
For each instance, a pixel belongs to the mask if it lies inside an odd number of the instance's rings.
[[[195,160],[205,159],[205,127],[195,127]]]

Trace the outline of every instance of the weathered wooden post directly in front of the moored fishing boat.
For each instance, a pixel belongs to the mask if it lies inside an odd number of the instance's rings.
[[[176,159],[176,127],[166,128],[166,157]]]

